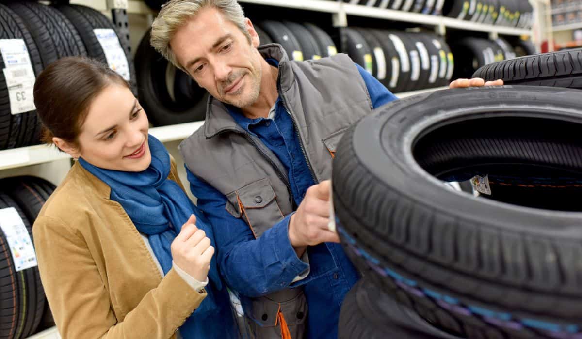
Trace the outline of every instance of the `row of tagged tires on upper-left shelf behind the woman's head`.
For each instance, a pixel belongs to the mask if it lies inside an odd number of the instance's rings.
[[[26,47],[26,53],[30,58],[31,72],[27,74],[26,68],[12,69],[12,77],[22,76],[22,72],[27,76],[25,83],[16,83],[10,88],[30,87],[30,91],[17,91],[10,94],[6,85],[5,74],[0,73],[0,150],[24,147],[38,144],[40,142],[40,121],[38,121],[35,110],[18,111],[11,107],[15,102],[28,102],[27,109],[32,101],[31,86],[34,78],[50,63],[64,56],[90,56],[108,63],[105,51],[98,40],[95,29],[104,30],[111,33],[109,42],[115,41],[115,37],[120,41],[122,47],[124,40],[119,39],[116,27],[107,17],[97,10],[80,5],[58,5],[47,6],[36,1],[6,1],[0,3],[0,23],[4,30],[0,33],[0,43],[5,43],[9,47],[14,42],[2,42],[3,39],[22,39]],[[125,74],[129,80],[134,94],[137,94],[135,72],[133,70],[132,58],[128,48],[123,48],[127,60]],[[5,69],[5,60],[10,57],[10,51],[6,49],[6,55],[2,55],[0,68]],[[0,51],[0,54],[2,52]],[[8,67],[7,70],[9,70]],[[19,72],[17,72],[19,71]],[[121,72],[121,71],[120,71]],[[14,80],[12,80],[14,81]],[[23,80],[24,81],[24,80]],[[22,110],[21,109],[21,110]],[[13,113],[14,111],[14,113]]]

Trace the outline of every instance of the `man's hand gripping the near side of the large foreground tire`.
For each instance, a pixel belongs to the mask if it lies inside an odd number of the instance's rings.
[[[289,241],[297,256],[301,256],[308,245],[339,242],[338,234],[328,229],[329,190],[329,180],[308,188],[297,212],[289,220]]]

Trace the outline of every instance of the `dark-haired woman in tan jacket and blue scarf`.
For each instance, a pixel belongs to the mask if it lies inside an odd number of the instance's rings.
[[[38,76],[34,103],[44,141],[79,160],[33,228],[61,336],[236,337],[211,225],[126,81],[63,58]]]

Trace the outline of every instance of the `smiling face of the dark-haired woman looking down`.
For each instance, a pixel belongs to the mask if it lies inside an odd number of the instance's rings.
[[[140,172],[151,163],[147,141],[148,120],[143,108],[129,88],[111,84],[89,107],[76,157],[104,169]]]

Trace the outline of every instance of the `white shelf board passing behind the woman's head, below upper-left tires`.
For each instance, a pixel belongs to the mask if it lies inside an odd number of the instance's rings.
[[[204,122],[191,122],[176,124],[172,126],[154,127],[150,129],[150,134],[162,142],[183,140],[189,137]],[[34,145],[29,147],[6,149],[0,151],[0,170],[16,167],[37,165],[39,163],[51,162],[55,160],[68,159],[70,156],[59,151],[54,146]]]

